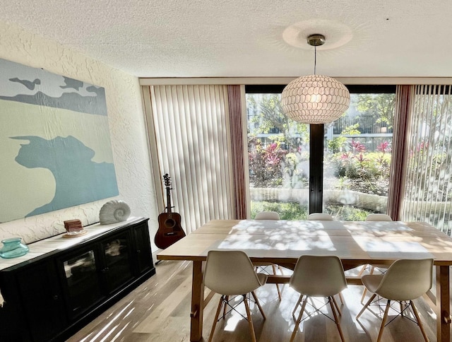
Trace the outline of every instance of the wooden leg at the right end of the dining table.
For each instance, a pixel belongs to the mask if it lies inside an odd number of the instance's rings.
[[[436,266],[436,341],[451,341],[449,266]]]

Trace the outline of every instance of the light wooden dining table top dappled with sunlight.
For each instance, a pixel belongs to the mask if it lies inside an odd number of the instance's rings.
[[[432,257],[436,265],[452,265],[451,237],[428,223],[400,221],[210,220],[157,259],[205,260],[210,249],[241,249],[260,261],[311,254],[355,264]]]

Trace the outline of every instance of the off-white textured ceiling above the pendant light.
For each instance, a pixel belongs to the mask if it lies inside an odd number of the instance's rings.
[[[452,76],[452,1],[13,0],[0,20],[138,77]],[[1,39],[1,37],[0,37]]]

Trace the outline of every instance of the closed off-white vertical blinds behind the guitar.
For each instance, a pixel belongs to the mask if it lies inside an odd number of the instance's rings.
[[[156,189],[167,173],[182,228],[188,234],[209,220],[233,218],[227,86],[143,86],[143,98],[150,136],[155,134]]]

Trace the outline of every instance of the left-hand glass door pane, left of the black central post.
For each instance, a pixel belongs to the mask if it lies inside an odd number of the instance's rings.
[[[309,211],[309,125],[285,117],[281,90],[246,92],[251,218],[278,211],[301,220]]]

